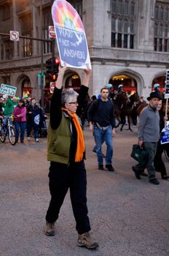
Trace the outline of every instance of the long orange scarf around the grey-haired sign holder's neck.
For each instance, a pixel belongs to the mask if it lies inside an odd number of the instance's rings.
[[[66,108],[61,108],[64,110],[68,116],[70,116],[74,122],[74,126],[77,132],[77,146],[76,146],[76,155],[75,155],[75,162],[80,162],[83,159],[84,154],[84,137],[82,132],[82,127],[79,124],[79,119],[76,113],[70,113]]]

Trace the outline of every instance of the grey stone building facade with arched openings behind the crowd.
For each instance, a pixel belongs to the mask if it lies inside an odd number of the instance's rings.
[[[17,95],[27,91],[37,99],[42,90],[37,75],[52,56],[48,26],[52,25],[49,0],[0,0],[0,83],[17,86]],[[169,68],[169,0],[72,0],[87,36],[92,75],[90,95],[99,94],[108,83],[146,97],[154,83],[165,86]],[[9,39],[19,31],[19,42]],[[6,35],[4,35],[6,34]],[[43,52],[43,54],[42,54]],[[43,57],[42,57],[43,56]],[[58,48],[55,44],[55,57]],[[43,65],[42,65],[43,62]],[[79,87],[82,70],[69,69],[65,86]],[[45,97],[50,98],[46,77]]]

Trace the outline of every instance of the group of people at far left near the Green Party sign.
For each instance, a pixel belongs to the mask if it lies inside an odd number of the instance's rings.
[[[3,119],[2,125],[5,127],[7,118],[15,125],[16,142],[24,143],[25,131],[27,138],[31,140],[31,131],[34,131],[34,140],[39,142],[39,135],[42,128],[45,128],[45,118],[42,108],[35,98],[9,97],[6,94],[0,95],[0,117]]]

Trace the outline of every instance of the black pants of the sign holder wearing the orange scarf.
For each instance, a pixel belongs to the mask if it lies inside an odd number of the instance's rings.
[[[76,220],[76,230],[79,234],[90,231],[90,222],[87,217],[87,179],[84,162],[67,165],[57,162],[50,163],[50,206],[47,210],[47,222],[58,219],[60,207],[70,188],[71,206]]]

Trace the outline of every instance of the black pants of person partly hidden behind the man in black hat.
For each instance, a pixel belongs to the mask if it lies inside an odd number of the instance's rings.
[[[167,175],[166,168],[165,168],[165,163],[162,160],[162,152],[164,151],[165,146],[166,145],[165,144],[162,145],[160,143],[160,140],[159,140],[158,144],[157,144],[157,151],[156,151],[156,154],[155,154],[155,157],[154,157],[155,170],[159,171],[161,173],[162,177]]]

